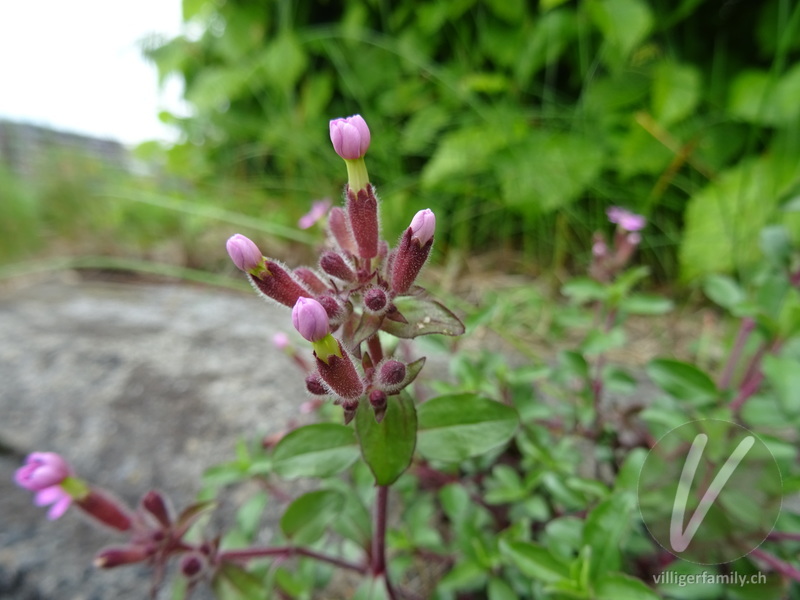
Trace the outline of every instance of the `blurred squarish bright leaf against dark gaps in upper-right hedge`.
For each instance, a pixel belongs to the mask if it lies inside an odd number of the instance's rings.
[[[663,62],[653,81],[653,115],[672,125],[691,115],[700,100],[700,72],[693,65]]]

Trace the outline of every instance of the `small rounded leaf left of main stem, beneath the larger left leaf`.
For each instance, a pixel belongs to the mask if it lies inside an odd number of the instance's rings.
[[[339,516],[344,496],[335,490],[317,490],[294,500],[281,517],[281,531],[295,544],[313,544]]]

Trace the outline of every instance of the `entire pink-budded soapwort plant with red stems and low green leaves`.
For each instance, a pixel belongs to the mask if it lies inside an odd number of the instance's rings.
[[[441,341],[432,334],[465,330],[417,283],[436,215],[424,209],[411,216],[390,246],[364,158],[366,122],[358,115],[333,120],[330,136],[348,182],[343,205],[321,201],[304,218],[310,226],[327,216],[328,243],[317,264],[265,257],[240,234],[227,242],[234,264],[260,295],[285,308],[287,326],[302,338],[292,344],[280,335],[274,343],[305,378],[308,396],[295,400],[298,408],[317,411],[321,422],[257,444],[240,441],[236,459],[211,467],[198,502],[177,513],[157,491],[130,509],[62,457],[31,454],[16,481],[38,505],[51,506],[49,518],[74,506],[126,536],[100,551],[98,567],[150,564],[153,596],[177,571],[175,597],[208,585],[225,600],[798,597],[800,513],[790,504],[775,523],[761,523],[764,511],[752,509],[776,508],[783,494],[800,489],[800,256],[785,229],[764,231],[765,260],[746,285],[721,275],[705,283],[708,298],[740,323],[727,357],[670,355],[636,373],[614,361],[630,335],[627,320],[673,306],[637,291],[648,277],[635,264],[648,224],[612,207],[613,232],[594,236],[587,276],[564,284],[546,332],[569,332],[577,344],[512,366],[499,352],[452,352],[440,343],[451,377],[428,378],[429,398],[418,385],[425,358],[413,354],[422,344],[410,340]],[[524,291],[522,302],[506,306],[517,324],[533,304],[534,292]],[[508,301],[499,291],[490,300],[467,316],[468,327],[498,327]],[[703,419],[753,431],[783,474],[772,487],[751,486],[742,498],[749,508],[732,513],[740,524],[765,525],[763,543],[710,566],[659,546],[637,509],[646,504],[661,518],[663,508],[669,519],[670,497],[640,487],[643,465],[661,436]],[[234,524],[209,533],[201,518],[214,500],[227,486],[253,480],[258,491]],[[283,484],[293,480],[316,487],[295,496]],[[754,499],[762,504],[748,504]],[[261,526],[268,500],[285,505],[275,531]],[[732,521],[721,523],[712,530],[719,543],[736,543],[728,536],[737,529]],[[683,589],[665,570],[678,578],[737,578],[711,591]],[[741,585],[756,573],[766,576]]]

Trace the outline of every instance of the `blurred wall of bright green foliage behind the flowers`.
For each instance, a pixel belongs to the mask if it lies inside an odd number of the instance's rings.
[[[163,118],[194,181],[305,207],[339,183],[328,119],[361,112],[397,231],[430,206],[451,245],[561,266],[622,204],[655,223],[657,273],[687,279],[752,265],[798,192],[788,0],[185,0],[184,18],[147,54],[185,82],[192,116]]]

